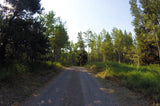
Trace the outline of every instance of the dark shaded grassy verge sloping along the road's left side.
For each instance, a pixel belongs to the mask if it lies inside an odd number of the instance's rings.
[[[31,95],[35,95],[46,82],[57,76],[64,68],[60,63],[50,61],[35,63],[32,70],[26,70],[23,64],[16,64],[13,67],[15,70],[12,72],[6,70],[7,74],[0,71],[3,73],[0,73],[0,106],[18,105]]]

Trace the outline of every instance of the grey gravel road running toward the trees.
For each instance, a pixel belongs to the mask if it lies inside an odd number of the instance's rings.
[[[23,106],[119,106],[82,67],[70,67]]]

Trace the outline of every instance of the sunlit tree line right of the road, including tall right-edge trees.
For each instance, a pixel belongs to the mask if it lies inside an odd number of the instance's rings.
[[[88,52],[88,62],[115,61],[128,64],[160,64],[160,0],[130,0],[136,35],[126,30],[103,29],[80,32]],[[74,63],[78,43],[71,42],[69,57]]]

